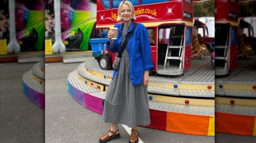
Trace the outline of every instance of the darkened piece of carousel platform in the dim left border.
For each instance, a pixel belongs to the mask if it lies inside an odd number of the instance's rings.
[[[45,73],[41,63],[36,63],[22,77],[22,90],[40,108],[45,109]]]

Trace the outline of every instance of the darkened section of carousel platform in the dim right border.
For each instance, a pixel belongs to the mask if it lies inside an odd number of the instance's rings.
[[[229,76],[215,78],[215,131],[256,136],[256,57],[237,59]]]

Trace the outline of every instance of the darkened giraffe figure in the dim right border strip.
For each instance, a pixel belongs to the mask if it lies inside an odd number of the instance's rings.
[[[245,57],[246,55],[256,56],[251,45],[245,45],[245,41],[243,39],[243,29],[241,26],[238,27],[237,39],[237,57]]]

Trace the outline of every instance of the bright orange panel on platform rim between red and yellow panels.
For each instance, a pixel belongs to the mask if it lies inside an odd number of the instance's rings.
[[[167,113],[166,131],[192,134],[208,135],[210,116],[194,115],[185,113]]]

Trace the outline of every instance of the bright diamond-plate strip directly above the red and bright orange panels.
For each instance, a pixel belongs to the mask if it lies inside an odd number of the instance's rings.
[[[214,107],[212,106],[195,106],[195,105],[184,105],[184,104],[174,104],[174,103],[163,103],[148,101],[149,108],[170,111],[170,112],[179,112],[187,114],[197,114],[197,115],[209,115],[214,116]]]

